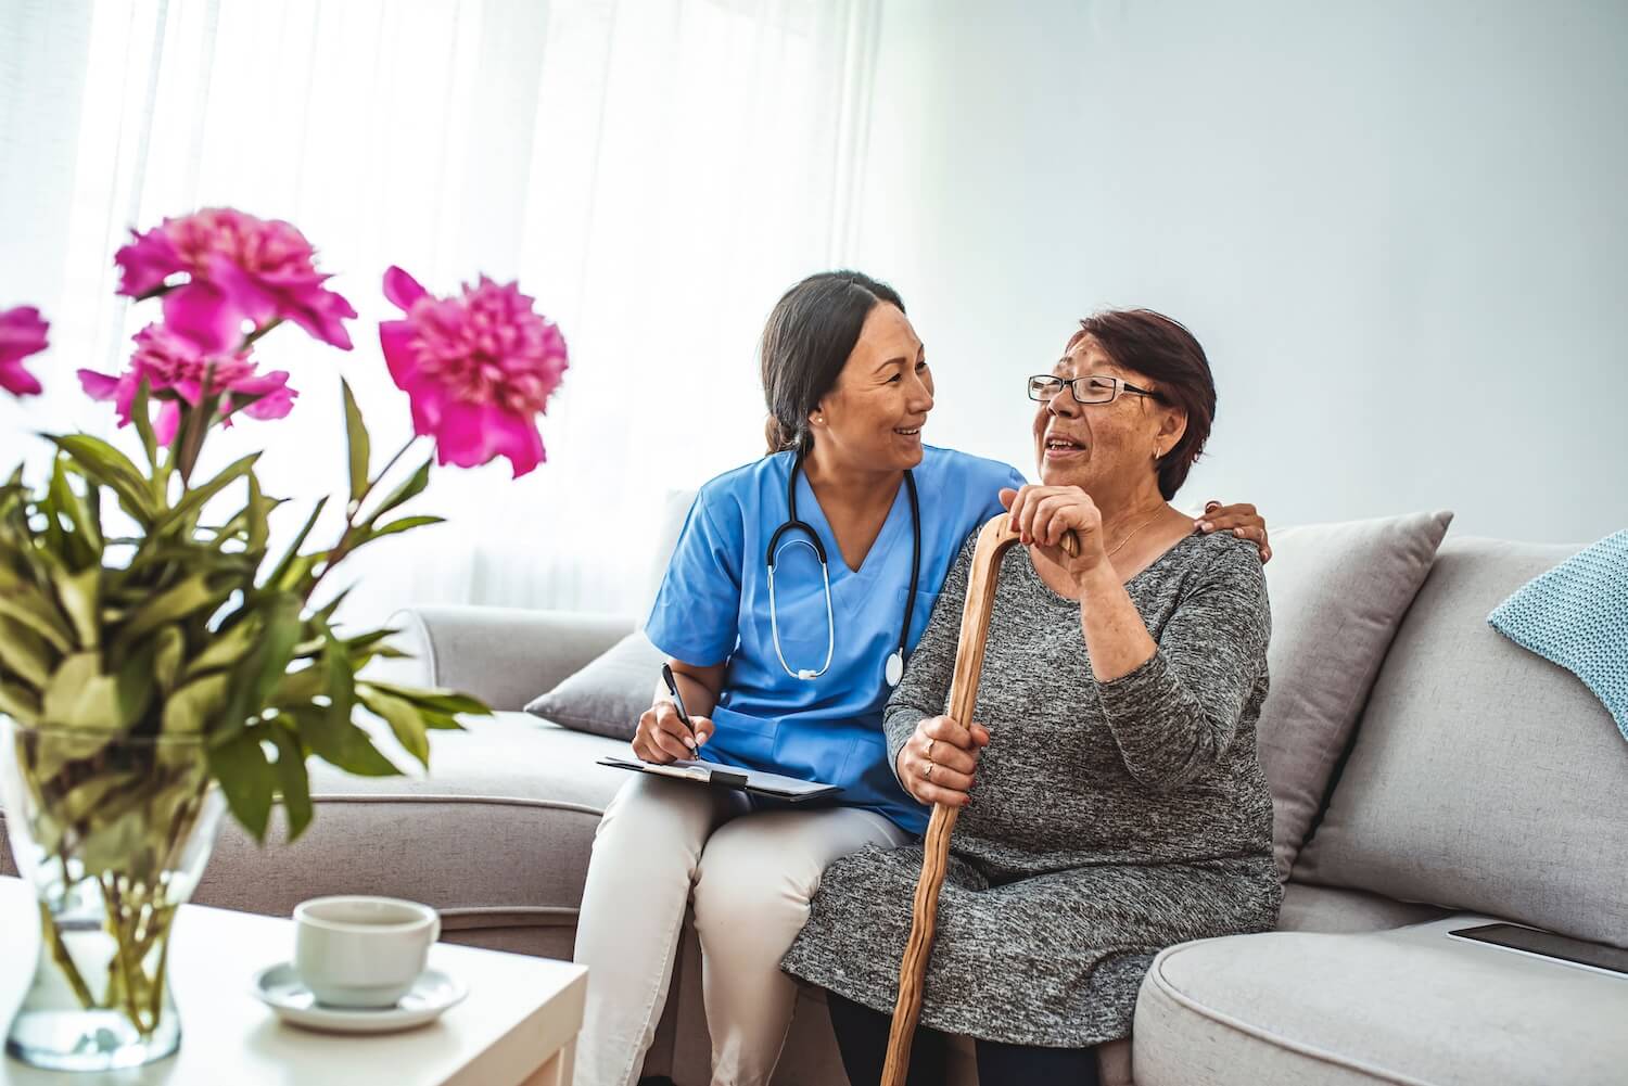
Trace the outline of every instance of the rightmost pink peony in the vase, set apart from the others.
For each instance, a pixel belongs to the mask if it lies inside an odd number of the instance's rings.
[[[383,321],[391,376],[412,401],[414,431],[433,435],[441,464],[475,467],[506,456],[524,475],[547,454],[536,415],[565,373],[565,337],[514,283],[480,277],[459,298],[435,298],[392,267],[384,296],[405,321]]]

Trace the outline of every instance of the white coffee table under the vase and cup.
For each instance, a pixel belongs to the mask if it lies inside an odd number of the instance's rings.
[[[0,1086],[570,1086],[588,970],[523,954],[438,943],[430,964],[469,985],[438,1021],[350,1037],[283,1026],[249,990],[288,961],[293,922],[187,905],[169,948],[181,1050],[106,1076],[42,1071],[0,1057]],[[39,923],[21,879],[0,878],[0,1032],[34,970]]]

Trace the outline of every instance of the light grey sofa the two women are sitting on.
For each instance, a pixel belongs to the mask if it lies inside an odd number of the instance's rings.
[[[1138,1086],[1628,1081],[1628,979],[1446,936],[1490,917],[1628,946],[1628,744],[1576,677],[1485,622],[1571,550],[1439,549],[1293,855],[1281,930],[1156,959],[1135,1019]],[[1273,591],[1281,635],[1296,601]],[[324,892],[396,894],[441,909],[449,939],[565,957],[594,825],[625,780],[594,759],[625,747],[514,710],[633,624],[500,609],[405,619],[418,677],[498,715],[438,733],[427,780],[317,769],[306,837],[262,850],[228,827],[195,900],[287,913]],[[1293,728],[1273,738],[1298,741]],[[679,1086],[708,1078],[698,972],[689,933],[646,1062]],[[956,1076],[969,1081],[965,1060]],[[812,996],[775,1081],[845,1081]]]

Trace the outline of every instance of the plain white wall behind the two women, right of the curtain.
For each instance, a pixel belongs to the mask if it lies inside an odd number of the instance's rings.
[[[931,441],[1031,469],[1019,379],[1146,304],[1219,388],[1182,500],[1628,526],[1628,5],[889,0],[877,63]]]

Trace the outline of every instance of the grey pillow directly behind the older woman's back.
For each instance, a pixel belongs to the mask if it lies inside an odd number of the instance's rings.
[[[1273,532],[1271,690],[1255,731],[1271,786],[1278,873],[1288,878],[1452,513]]]

